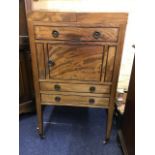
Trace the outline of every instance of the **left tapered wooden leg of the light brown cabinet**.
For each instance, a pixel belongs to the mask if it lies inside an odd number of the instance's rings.
[[[37,105],[37,118],[38,118],[38,127],[37,131],[41,138],[44,138],[43,132],[43,114],[42,114],[42,106]]]

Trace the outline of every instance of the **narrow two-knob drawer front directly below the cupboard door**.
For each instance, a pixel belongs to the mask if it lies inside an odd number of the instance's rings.
[[[80,93],[110,94],[110,85],[93,85],[93,84],[71,84],[71,83],[51,83],[40,82],[40,90],[43,91],[64,91]]]

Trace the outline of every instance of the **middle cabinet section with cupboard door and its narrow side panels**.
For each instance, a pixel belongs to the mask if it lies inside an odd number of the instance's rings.
[[[117,46],[36,44],[39,79],[113,80]]]

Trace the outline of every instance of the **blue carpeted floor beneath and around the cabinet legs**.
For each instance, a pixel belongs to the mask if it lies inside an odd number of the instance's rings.
[[[111,140],[103,145],[104,109],[46,107],[45,139],[37,134],[36,114],[20,116],[20,155],[122,155],[113,124]]]

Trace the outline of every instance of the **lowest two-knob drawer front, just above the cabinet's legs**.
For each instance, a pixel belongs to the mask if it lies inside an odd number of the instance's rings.
[[[41,102],[47,105],[108,106],[109,98],[41,94]]]

